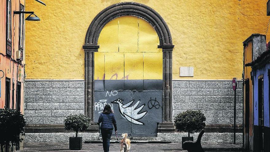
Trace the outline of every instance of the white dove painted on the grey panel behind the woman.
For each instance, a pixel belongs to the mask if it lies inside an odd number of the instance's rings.
[[[147,111],[139,113],[142,108],[145,106],[145,104],[138,107],[141,100],[138,100],[133,106],[130,106],[134,100],[131,100],[129,103],[123,104],[123,99],[116,99],[112,101],[111,103],[118,103],[119,111],[121,115],[127,119],[129,122],[137,124],[137,125],[144,125],[144,123],[138,121],[138,119],[141,119],[144,117],[147,113]],[[138,107],[138,108],[137,108]],[[136,108],[136,109],[135,109]]]

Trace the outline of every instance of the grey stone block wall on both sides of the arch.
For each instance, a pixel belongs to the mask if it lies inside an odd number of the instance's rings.
[[[237,124],[242,124],[242,84],[237,87]],[[201,110],[206,124],[233,124],[231,80],[173,80],[173,118]],[[60,124],[67,115],[84,114],[84,80],[25,80],[27,124]]]

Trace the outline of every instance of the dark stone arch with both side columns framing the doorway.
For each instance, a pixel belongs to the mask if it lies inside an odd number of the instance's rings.
[[[98,51],[98,37],[103,27],[114,18],[132,15],[145,19],[158,34],[163,51],[163,123],[159,124],[158,132],[172,132],[172,37],[168,25],[155,10],[137,2],[121,2],[111,5],[93,19],[88,27],[85,45],[85,115],[94,120],[94,52]]]

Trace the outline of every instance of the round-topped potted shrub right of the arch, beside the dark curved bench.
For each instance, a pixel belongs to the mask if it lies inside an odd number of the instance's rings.
[[[188,132],[188,137],[182,137],[182,148],[185,141],[193,141],[193,137],[190,134],[194,132],[200,132],[204,127],[206,120],[204,114],[201,111],[187,110],[179,113],[174,119],[174,125],[177,131]]]

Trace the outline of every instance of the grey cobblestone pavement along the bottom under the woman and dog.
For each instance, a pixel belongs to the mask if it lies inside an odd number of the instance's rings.
[[[244,152],[241,151],[241,145],[222,145],[222,144],[205,144],[203,147],[206,149],[205,152]],[[230,148],[230,149],[228,149]],[[234,151],[231,151],[231,150]],[[102,144],[85,144],[83,143],[82,150],[69,150],[68,143],[25,143],[23,150],[18,150],[17,152],[38,152],[38,151],[48,151],[48,152],[103,152]],[[110,144],[110,152],[119,152],[119,144]],[[181,143],[169,143],[169,144],[132,144],[130,152],[187,152],[182,150]]]

